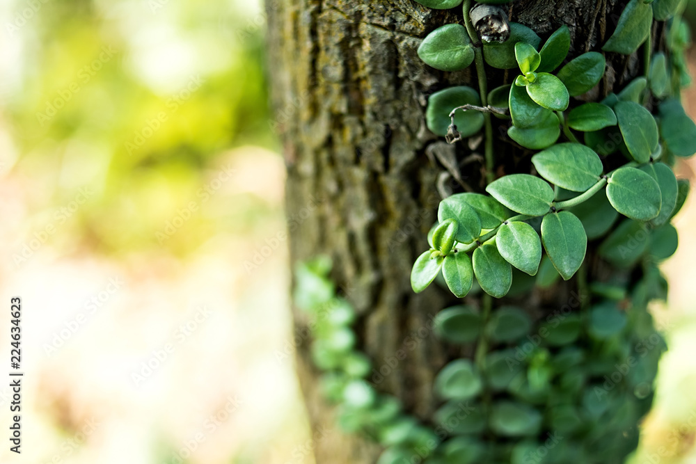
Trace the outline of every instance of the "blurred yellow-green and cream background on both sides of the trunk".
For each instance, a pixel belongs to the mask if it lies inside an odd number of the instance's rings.
[[[22,296],[25,372],[1,463],[313,463],[265,19],[258,0],[0,2],[0,301]],[[696,463],[696,195],[675,222],[636,464]],[[0,333],[6,359],[9,315]],[[9,401],[0,380],[3,429]]]

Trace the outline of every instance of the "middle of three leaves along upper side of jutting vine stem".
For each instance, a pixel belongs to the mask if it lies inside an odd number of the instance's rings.
[[[511,174],[491,182],[486,191],[512,211],[528,216],[541,216],[553,202],[553,189],[539,177]]]

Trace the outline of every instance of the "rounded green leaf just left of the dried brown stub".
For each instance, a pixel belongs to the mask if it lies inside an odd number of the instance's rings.
[[[436,70],[459,71],[473,63],[474,48],[464,26],[445,24],[427,35],[418,56]]]

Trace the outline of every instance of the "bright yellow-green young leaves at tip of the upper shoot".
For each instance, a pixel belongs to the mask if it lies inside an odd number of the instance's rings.
[[[515,45],[515,56],[523,74],[515,81],[515,85],[524,86],[530,98],[539,106],[553,111],[567,109],[570,96],[563,83],[548,72],[535,72],[541,64],[541,55],[535,47],[518,42]]]

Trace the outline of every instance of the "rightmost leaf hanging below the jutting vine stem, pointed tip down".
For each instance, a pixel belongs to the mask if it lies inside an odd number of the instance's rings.
[[[569,211],[546,214],[541,221],[541,241],[563,280],[573,277],[587,251],[587,235],[580,219]]]

